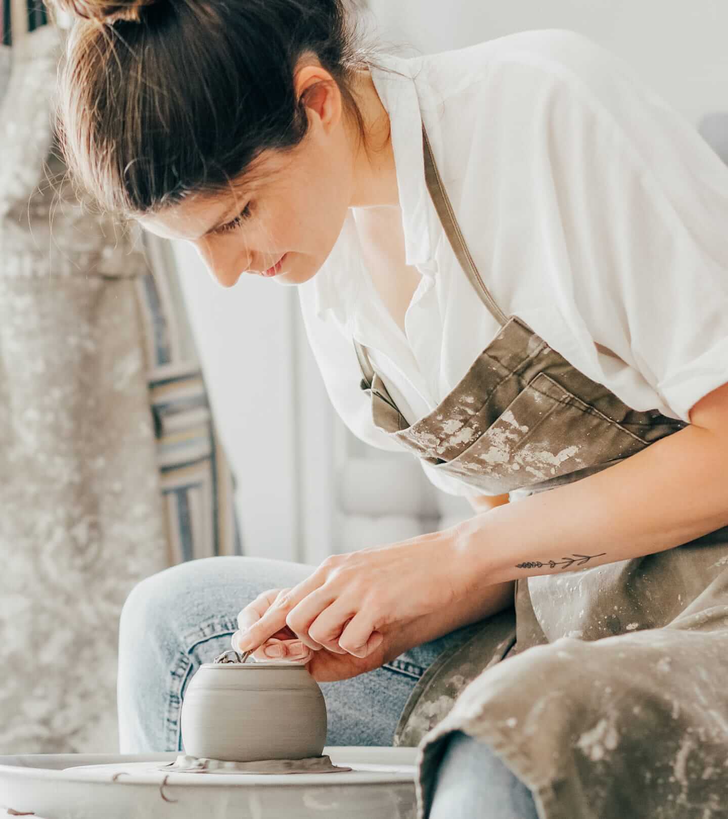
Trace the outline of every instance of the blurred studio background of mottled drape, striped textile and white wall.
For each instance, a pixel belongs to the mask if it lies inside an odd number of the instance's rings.
[[[0,753],[115,752],[116,627],[142,577],[214,554],[315,564],[473,512],[411,455],[375,450],[341,423],[295,288],[247,276],[224,289],[192,247],[121,239],[70,190],[54,198],[63,168],[43,89],[55,43],[38,2],[0,7]],[[369,36],[404,57],[577,30],[728,162],[723,0],[356,7]]]

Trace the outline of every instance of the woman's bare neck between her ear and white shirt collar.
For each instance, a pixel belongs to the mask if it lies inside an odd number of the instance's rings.
[[[358,144],[354,158],[351,208],[399,207],[395,157],[391,147],[390,120],[379,99],[369,70],[357,72],[355,98],[364,118],[369,153]],[[355,134],[356,138],[356,134]]]

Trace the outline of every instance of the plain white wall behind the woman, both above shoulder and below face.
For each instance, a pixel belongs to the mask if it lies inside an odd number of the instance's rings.
[[[693,124],[705,112],[728,111],[725,0],[370,0],[370,6],[375,33],[421,52],[524,29],[576,29],[629,61]],[[237,473],[246,554],[316,563],[330,550],[352,548],[355,533],[337,528],[332,515],[336,460],[364,445],[332,414],[296,293],[252,276],[225,290],[192,248],[175,251],[210,400]],[[441,500],[455,512],[462,501]]]

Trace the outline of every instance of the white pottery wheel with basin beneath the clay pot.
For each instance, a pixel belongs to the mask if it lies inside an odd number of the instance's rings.
[[[0,817],[414,819],[416,755],[415,748],[329,746],[312,763],[317,770],[277,775],[182,770],[175,766],[189,759],[179,751],[0,756]],[[207,762],[192,758],[194,767]],[[321,770],[324,763],[336,772]]]

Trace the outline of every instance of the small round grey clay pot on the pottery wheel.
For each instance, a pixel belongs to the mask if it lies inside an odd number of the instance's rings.
[[[204,663],[184,695],[182,741],[193,757],[228,762],[321,755],[323,694],[304,665]]]

